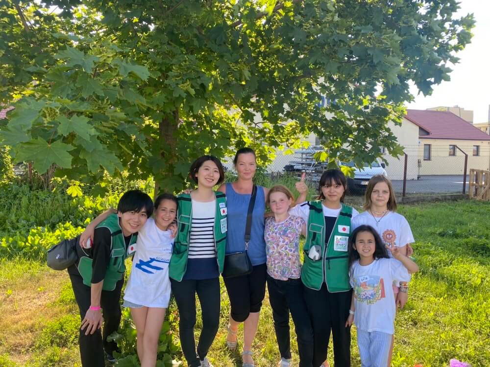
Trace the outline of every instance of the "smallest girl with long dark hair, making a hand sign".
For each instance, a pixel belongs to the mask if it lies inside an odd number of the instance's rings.
[[[384,245],[376,230],[366,225],[349,239],[349,264],[354,293],[345,327],[356,325],[362,367],[386,367],[396,311],[391,284],[408,280],[418,266],[399,247]]]

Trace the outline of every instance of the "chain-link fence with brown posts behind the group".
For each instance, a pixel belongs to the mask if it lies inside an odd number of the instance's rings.
[[[379,160],[366,164],[361,170],[356,169],[354,177],[348,179],[349,192],[353,195],[363,194],[369,178],[384,171],[392,181],[397,196],[467,193],[469,170],[490,168],[489,150],[475,147],[441,144],[433,145],[427,151],[423,145],[407,146],[405,155],[399,158],[385,154],[383,158],[388,164]],[[319,149],[312,147],[296,150],[292,155],[278,152],[275,160],[266,167],[267,174],[272,182],[278,182],[284,175],[299,179],[301,172],[306,172],[307,180],[316,186],[326,168],[326,164],[318,163],[313,158]],[[342,164],[351,165],[350,162]],[[233,164],[226,165],[233,170]]]

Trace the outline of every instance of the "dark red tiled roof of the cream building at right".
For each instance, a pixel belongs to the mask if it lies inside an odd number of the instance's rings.
[[[490,140],[490,135],[452,112],[407,110],[405,118],[429,133],[421,139]]]

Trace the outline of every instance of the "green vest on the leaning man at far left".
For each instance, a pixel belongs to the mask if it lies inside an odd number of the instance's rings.
[[[102,290],[113,291],[116,288],[116,283],[123,278],[126,270],[124,260],[129,256],[126,251],[123,230],[119,225],[117,214],[109,215],[97,228],[107,228],[111,231],[111,259],[105,272]],[[128,246],[136,243],[137,236],[137,233],[131,236]],[[92,260],[88,256],[81,256],[78,261],[78,272],[83,278],[83,284],[89,287],[92,284]]]

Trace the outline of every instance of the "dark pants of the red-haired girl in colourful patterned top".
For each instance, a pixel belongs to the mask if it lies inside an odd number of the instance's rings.
[[[312,367],[313,330],[303,298],[301,279],[276,280],[267,275],[267,288],[281,357],[291,358],[289,336],[289,312],[291,311],[298,341],[299,367]]]

